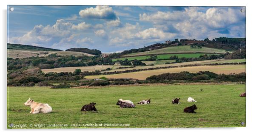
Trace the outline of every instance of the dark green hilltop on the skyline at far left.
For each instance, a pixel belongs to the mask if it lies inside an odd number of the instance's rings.
[[[21,45],[21,44],[11,44],[7,43],[7,49],[14,49],[14,50],[33,50],[33,51],[62,51],[59,49],[52,49],[46,47],[37,47],[31,45]]]

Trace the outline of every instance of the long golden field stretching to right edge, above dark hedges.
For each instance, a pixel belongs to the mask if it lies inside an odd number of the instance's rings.
[[[145,80],[152,75],[159,75],[163,73],[179,73],[182,71],[188,71],[190,73],[196,73],[199,71],[210,71],[216,74],[230,74],[230,73],[242,73],[245,72],[245,65],[218,65],[218,66],[194,66],[194,67],[176,67],[158,70],[147,70],[133,73],[120,73],[113,75],[92,75],[85,76],[85,78],[136,78],[139,80]]]

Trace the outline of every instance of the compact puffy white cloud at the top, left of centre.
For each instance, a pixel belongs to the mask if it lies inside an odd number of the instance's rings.
[[[85,8],[79,11],[79,15],[84,18],[116,20],[117,15],[109,6],[96,6],[95,8]]]

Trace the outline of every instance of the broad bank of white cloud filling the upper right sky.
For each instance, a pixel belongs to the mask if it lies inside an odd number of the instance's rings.
[[[139,14],[140,21],[152,22],[155,28],[164,32],[180,33],[179,37],[202,39],[208,36],[223,35],[223,29],[231,31],[236,25],[244,23],[245,13],[238,8],[208,8],[202,11],[198,7],[188,7],[182,11],[157,11],[153,14]],[[228,33],[228,32],[226,32]],[[244,33],[245,34],[245,33]]]

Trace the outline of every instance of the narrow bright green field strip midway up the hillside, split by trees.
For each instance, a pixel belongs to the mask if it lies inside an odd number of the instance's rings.
[[[194,57],[199,57],[201,55],[205,55],[208,53],[184,53],[184,54],[159,54],[157,55],[157,59],[169,59],[171,56],[178,56],[179,58],[185,57],[185,58],[194,58]],[[211,55],[211,54],[208,54]],[[117,61],[117,60],[122,60],[124,61],[125,59],[128,59],[129,61],[132,61],[134,59],[137,60],[144,60],[148,59],[150,56],[135,56],[135,57],[125,57],[125,58],[118,58],[118,59],[112,59],[112,61]]]

